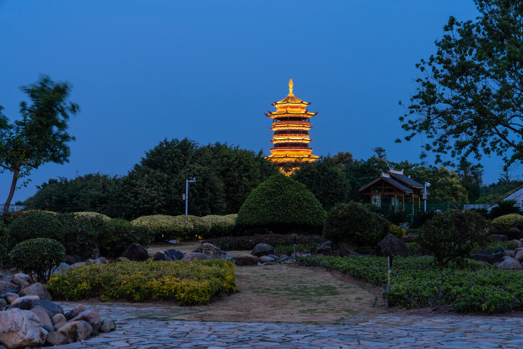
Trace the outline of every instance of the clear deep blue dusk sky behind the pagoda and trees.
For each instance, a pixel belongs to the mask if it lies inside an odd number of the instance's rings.
[[[18,118],[22,85],[40,74],[73,86],[70,162],[33,171],[16,200],[59,176],[125,175],[164,138],[228,142],[269,154],[272,102],[295,96],[311,119],[313,154],[419,162],[422,137],[394,143],[397,120],[449,16],[473,1],[0,0],[0,105]],[[429,157],[428,161],[433,161]],[[501,159],[485,157],[484,181]],[[11,174],[0,175],[0,201]],[[3,202],[3,201],[2,201]]]

